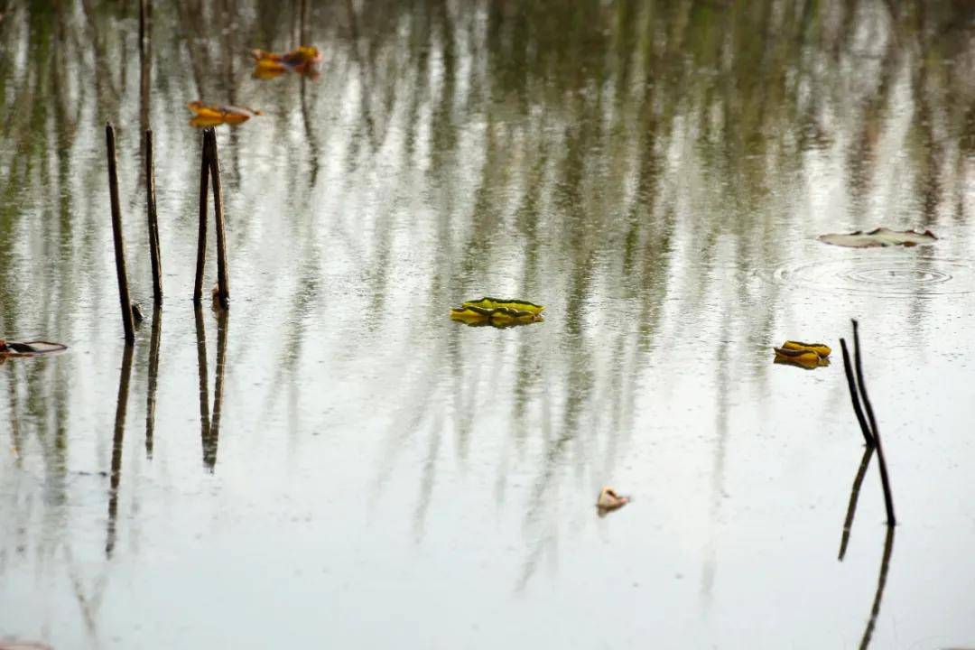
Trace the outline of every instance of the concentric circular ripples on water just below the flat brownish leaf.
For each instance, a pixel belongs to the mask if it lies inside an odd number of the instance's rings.
[[[785,264],[775,281],[789,287],[875,295],[943,295],[975,291],[975,269],[942,257],[850,257]]]

